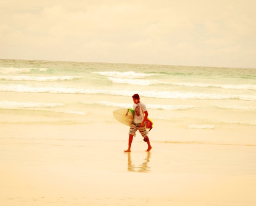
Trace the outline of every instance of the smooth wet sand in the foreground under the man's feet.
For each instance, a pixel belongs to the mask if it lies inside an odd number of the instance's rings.
[[[2,139],[1,205],[255,205],[255,146],[152,146]]]

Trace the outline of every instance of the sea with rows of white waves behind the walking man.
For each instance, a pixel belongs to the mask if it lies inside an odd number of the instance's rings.
[[[153,142],[256,146],[256,68],[5,59],[0,139],[127,141],[135,93]]]

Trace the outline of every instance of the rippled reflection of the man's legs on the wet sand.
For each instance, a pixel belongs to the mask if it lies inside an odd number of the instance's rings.
[[[144,161],[142,162],[142,164],[138,167],[135,167],[134,164],[132,163],[132,159],[131,159],[131,152],[126,152],[125,155],[127,155],[128,158],[128,165],[127,165],[127,169],[128,171],[137,171],[139,173],[148,173],[150,171],[150,167],[148,167],[149,164],[149,160],[150,160],[150,152],[146,152],[147,156],[144,159]]]

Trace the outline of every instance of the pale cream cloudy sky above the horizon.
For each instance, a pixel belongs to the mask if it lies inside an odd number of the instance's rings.
[[[256,0],[0,0],[0,59],[256,68]]]

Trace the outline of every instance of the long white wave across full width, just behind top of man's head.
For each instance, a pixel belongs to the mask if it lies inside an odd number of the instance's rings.
[[[63,94],[105,94],[118,96],[132,96],[134,91],[128,90],[109,90],[82,87],[67,87],[65,85],[43,85],[43,84],[7,84],[0,85],[2,92],[31,92],[31,93],[63,93]],[[149,98],[167,98],[167,99],[240,99],[255,101],[255,95],[247,94],[210,94],[197,92],[179,92],[179,91],[141,91],[141,96]]]

